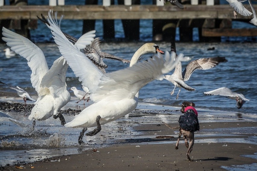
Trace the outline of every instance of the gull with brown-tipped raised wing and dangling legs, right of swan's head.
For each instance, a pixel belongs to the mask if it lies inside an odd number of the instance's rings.
[[[211,69],[218,65],[220,62],[226,62],[227,60],[225,57],[214,57],[214,58],[201,58],[194,61],[189,62],[189,64],[186,66],[185,70],[182,73],[182,66],[181,62],[179,61],[176,65],[175,71],[172,75],[165,75],[164,79],[170,81],[172,84],[174,84],[173,91],[170,92],[170,95],[174,94],[174,90],[176,87],[179,87],[179,92],[181,88],[187,90],[187,91],[195,91],[194,88],[188,86],[185,81],[188,81],[193,71],[196,69]],[[179,98],[179,92],[176,96],[176,100]]]

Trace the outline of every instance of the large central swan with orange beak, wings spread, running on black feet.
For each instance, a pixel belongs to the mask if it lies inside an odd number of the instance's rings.
[[[75,118],[65,124],[66,127],[83,128],[78,138],[82,141],[87,128],[95,127],[87,136],[96,135],[101,125],[119,119],[132,112],[138,104],[139,90],[153,80],[163,80],[163,74],[176,66],[176,53],[163,53],[155,43],[146,43],[139,48],[130,61],[130,67],[103,73],[85,54],[76,48],[60,30],[56,20],[52,18],[52,10],[48,12],[49,29],[53,34],[59,51],[69,63],[82,85],[91,91],[90,99],[93,104],[85,108]],[[158,53],[160,52],[160,53]],[[145,53],[157,53],[148,61],[137,63],[139,57]],[[179,58],[183,55],[180,54]]]

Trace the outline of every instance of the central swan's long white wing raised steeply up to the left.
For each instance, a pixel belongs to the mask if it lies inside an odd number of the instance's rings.
[[[88,87],[90,92],[94,92],[98,88],[98,83],[103,73],[65,37],[57,21],[52,18],[52,10],[48,12],[48,17],[50,26],[47,25],[47,27],[52,31],[53,38],[56,44],[59,45],[59,51],[76,77],[82,82],[81,84]]]

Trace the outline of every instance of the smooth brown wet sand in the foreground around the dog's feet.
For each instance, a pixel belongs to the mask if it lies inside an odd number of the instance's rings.
[[[169,124],[177,126],[178,124]],[[209,126],[210,125],[210,126]],[[256,122],[209,122],[201,123],[200,128],[233,128],[256,127]],[[170,135],[176,129],[170,129],[164,124],[138,125],[135,131],[145,135]],[[242,135],[245,138],[252,135]],[[33,163],[24,164],[26,169],[33,170],[225,170],[221,166],[243,165],[256,163],[256,144],[234,143],[233,135],[230,143],[216,143],[201,141],[206,137],[195,138],[195,144],[190,154],[192,161],[186,157],[187,148],[181,138],[179,149],[175,150],[177,137],[168,139],[151,138],[151,142],[140,143],[131,140],[130,143],[120,140],[111,147],[97,148],[83,151],[80,154],[51,157]],[[224,137],[208,137],[224,138]],[[156,140],[156,142],[155,142]],[[158,143],[165,140],[165,143]],[[242,155],[255,155],[254,158]],[[20,166],[20,165],[18,165]],[[17,166],[5,166],[1,170],[19,170]]]

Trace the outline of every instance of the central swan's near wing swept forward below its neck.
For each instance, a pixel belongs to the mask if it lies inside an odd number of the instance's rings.
[[[180,55],[182,56],[182,54]],[[134,98],[135,94],[150,81],[163,80],[163,74],[175,68],[177,63],[177,60],[174,60],[175,57],[175,52],[170,55],[166,51],[165,59],[158,53],[153,58],[149,58],[148,61],[107,73],[101,78],[99,88],[90,95],[90,99],[97,102],[103,98],[108,100]]]

